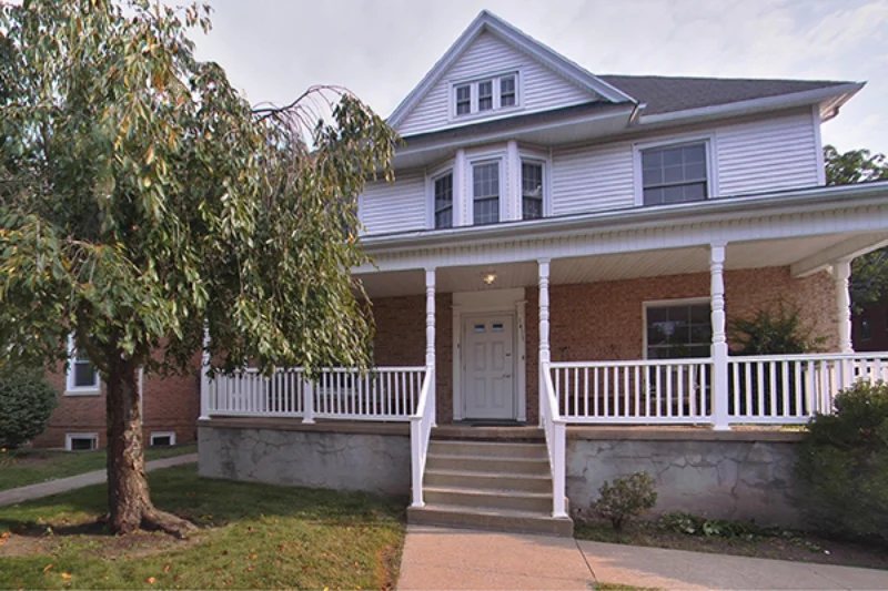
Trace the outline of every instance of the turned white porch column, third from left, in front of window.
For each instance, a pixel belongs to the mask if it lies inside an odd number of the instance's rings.
[[[709,245],[709,277],[713,323],[713,428],[730,429],[728,424],[728,342],[725,335],[725,244]]]

